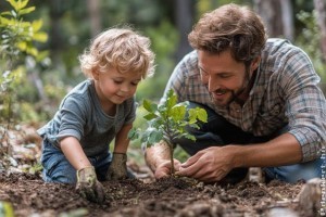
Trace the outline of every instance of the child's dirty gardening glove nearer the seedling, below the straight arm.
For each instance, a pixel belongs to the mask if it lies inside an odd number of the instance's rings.
[[[114,152],[106,174],[106,179],[118,180],[126,179],[127,177],[127,155],[125,153]]]

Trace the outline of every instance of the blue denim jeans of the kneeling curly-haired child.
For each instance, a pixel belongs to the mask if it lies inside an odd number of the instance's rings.
[[[104,181],[112,161],[110,152],[99,156],[88,157],[90,164],[95,167],[99,181]],[[76,183],[76,169],[71,165],[61,150],[43,140],[41,164],[43,166],[42,178],[46,182]],[[128,177],[134,178],[128,170]]]

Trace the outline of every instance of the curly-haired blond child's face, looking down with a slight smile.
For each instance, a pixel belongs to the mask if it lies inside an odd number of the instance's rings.
[[[103,107],[121,104],[131,98],[141,80],[140,73],[127,72],[118,73],[115,68],[110,68],[105,73],[95,71],[95,86]]]

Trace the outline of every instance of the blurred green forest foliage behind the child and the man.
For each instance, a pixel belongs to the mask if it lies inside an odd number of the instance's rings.
[[[140,84],[137,99],[140,103],[142,99],[158,101],[177,63],[176,52],[181,42],[175,22],[175,1],[99,2],[103,29],[127,23],[150,37],[156,53],[156,72],[153,78]],[[193,7],[192,23],[202,13],[225,3],[252,4],[250,0],[189,2]],[[292,42],[308,52],[325,82],[326,64],[319,52],[321,36],[313,1],[293,0],[292,3],[298,31]],[[3,0],[0,2],[0,125],[47,122],[63,95],[85,79],[77,56],[92,38],[87,3],[85,0]],[[135,122],[136,127],[143,124],[138,118]]]

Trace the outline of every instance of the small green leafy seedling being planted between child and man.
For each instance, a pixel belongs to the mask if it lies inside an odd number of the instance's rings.
[[[187,138],[192,141],[196,137],[186,131],[186,127],[199,128],[199,122],[206,123],[206,111],[200,107],[188,108],[189,102],[177,103],[177,97],[173,90],[166,95],[166,101],[155,104],[143,100],[143,108],[148,112],[143,118],[148,120],[146,130],[133,128],[129,131],[129,139],[140,139],[142,148],[148,148],[160,141],[164,141],[170,149],[171,174],[175,173],[173,151],[176,146],[174,141]]]

